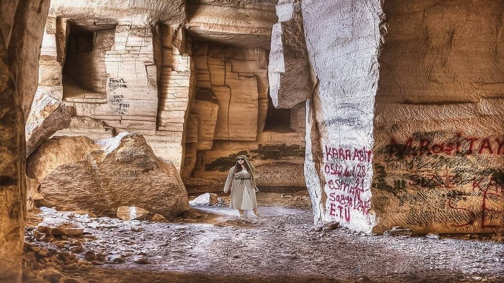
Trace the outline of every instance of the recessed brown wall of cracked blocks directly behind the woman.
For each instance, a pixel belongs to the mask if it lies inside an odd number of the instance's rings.
[[[197,91],[187,123],[182,176],[225,178],[239,154],[248,155],[257,166],[300,166],[304,104],[290,111],[288,130],[264,129],[268,116],[268,51],[207,41],[195,41],[192,46]],[[284,173],[286,186],[298,186],[300,182],[294,180],[299,172]],[[263,174],[260,185],[276,185],[271,181],[273,171]]]

